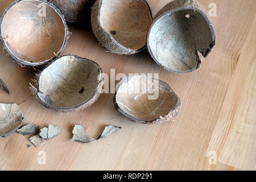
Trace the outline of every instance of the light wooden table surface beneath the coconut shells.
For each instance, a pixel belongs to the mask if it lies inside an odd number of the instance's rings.
[[[152,13],[170,0],[148,0]],[[0,14],[13,0],[0,2]],[[114,110],[114,94],[101,94],[89,109],[57,113],[41,106],[29,88],[33,68],[21,68],[6,51],[0,51],[0,78],[11,91],[0,91],[0,102],[17,103],[24,124],[61,127],[63,133],[31,144],[31,136],[18,133],[0,138],[0,170],[256,170],[256,72],[255,0],[200,0],[210,10],[217,35],[216,47],[202,67],[192,73],[164,71],[147,52],[133,56],[106,52],[91,29],[69,24],[72,32],[63,55],[74,53],[97,61],[105,73],[159,73],[180,96],[182,109],[175,122],[142,125],[130,122]],[[2,47],[1,47],[2,49]],[[106,125],[121,126],[108,138],[83,144],[71,142],[74,125],[82,125],[96,137]],[[38,163],[43,151],[46,164]],[[209,164],[216,152],[217,164]]]

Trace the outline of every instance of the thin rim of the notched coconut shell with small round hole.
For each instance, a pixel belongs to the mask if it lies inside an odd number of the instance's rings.
[[[215,42],[216,42],[216,35],[215,35],[215,32],[214,32],[214,29],[213,29],[213,26],[212,26],[212,23],[210,22],[210,19],[208,18],[208,16],[203,12],[201,11],[200,9],[198,8],[195,8],[195,7],[179,7],[179,8],[176,8],[176,9],[172,9],[172,10],[169,10],[169,11],[166,11],[165,13],[159,15],[151,24],[150,26],[150,30],[148,31],[148,35],[147,35],[147,49],[148,49],[148,52],[150,53],[150,56],[152,57],[152,59],[161,67],[161,68],[164,68],[166,69],[167,71],[169,72],[174,72],[174,73],[189,73],[189,72],[192,72],[192,71],[195,71],[196,69],[200,68],[200,65],[201,65],[201,60],[199,59],[199,55],[196,51],[196,57],[197,57],[197,66],[196,68],[193,68],[193,69],[189,69],[187,71],[176,71],[176,70],[173,70],[173,69],[170,69],[170,68],[167,68],[167,67],[164,67],[164,65],[160,64],[159,61],[155,58],[154,54],[152,53],[151,51],[151,48],[148,44],[148,40],[149,40],[149,37],[150,37],[150,31],[151,31],[151,28],[154,26],[155,22],[158,21],[160,18],[162,18],[164,15],[166,14],[172,14],[174,13],[175,11],[180,11],[180,10],[187,10],[187,9],[191,9],[191,10],[195,10],[195,11],[198,11],[201,15],[203,15],[203,17],[205,18],[205,20],[207,20],[207,23],[208,23],[208,26],[210,27],[210,31],[212,32],[212,38],[213,38],[213,42],[212,44],[210,44],[210,47],[209,49],[207,50],[207,52],[205,53],[205,55],[203,55],[204,58],[206,58],[210,52],[212,51],[212,48],[215,46]],[[198,60],[199,59],[199,60]]]

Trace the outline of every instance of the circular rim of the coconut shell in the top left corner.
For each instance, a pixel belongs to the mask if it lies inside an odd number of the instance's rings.
[[[61,47],[60,51],[58,53],[55,54],[55,56],[53,56],[51,59],[49,60],[45,60],[45,61],[42,61],[40,63],[31,63],[31,62],[28,62],[28,61],[24,61],[22,59],[19,59],[18,57],[16,57],[10,50],[9,48],[6,46],[6,43],[5,41],[3,40],[2,38],[2,21],[3,19],[5,18],[5,15],[6,13],[11,9],[11,7],[13,7],[14,5],[16,5],[17,3],[19,3],[20,1],[27,1],[27,0],[16,0],[14,1],[13,3],[11,3],[10,6],[7,7],[7,9],[5,10],[5,12],[3,13],[1,19],[0,19],[0,39],[1,39],[1,42],[2,42],[2,45],[3,47],[6,49],[6,51],[9,53],[9,55],[19,64],[22,64],[22,65],[27,65],[27,66],[39,66],[39,65],[44,65],[44,64],[47,64],[49,62],[51,62],[52,60],[54,60],[57,56],[59,56],[65,49],[65,46],[67,45],[67,41],[68,41],[68,26],[67,26],[67,23],[65,21],[65,18],[64,18],[64,15],[61,14],[60,10],[57,9],[56,6],[52,5],[52,3],[49,3],[47,1],[44,1],[44,0],[30,0],[30,1],[39,1],[39,2],[43,2],[43,3],[46,3],[47,5],[51,6],[57,14],[60,15],[60,18],[62,19],[63,21],[63,24],[64,24],[64,27],[65,27],[65,38],[64,38],[64,42],[63,42],[63,46]]]

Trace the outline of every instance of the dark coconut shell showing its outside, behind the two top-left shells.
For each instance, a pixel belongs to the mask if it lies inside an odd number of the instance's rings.
[[[96,0],[48,0],[64,15],[67,22],[88,22]]]

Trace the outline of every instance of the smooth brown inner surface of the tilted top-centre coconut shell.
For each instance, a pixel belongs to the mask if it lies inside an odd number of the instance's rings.
[[[147,43],[152,18],[142,0],[104,0],[100,10],[100,24],[121,46],[140,49]]]

